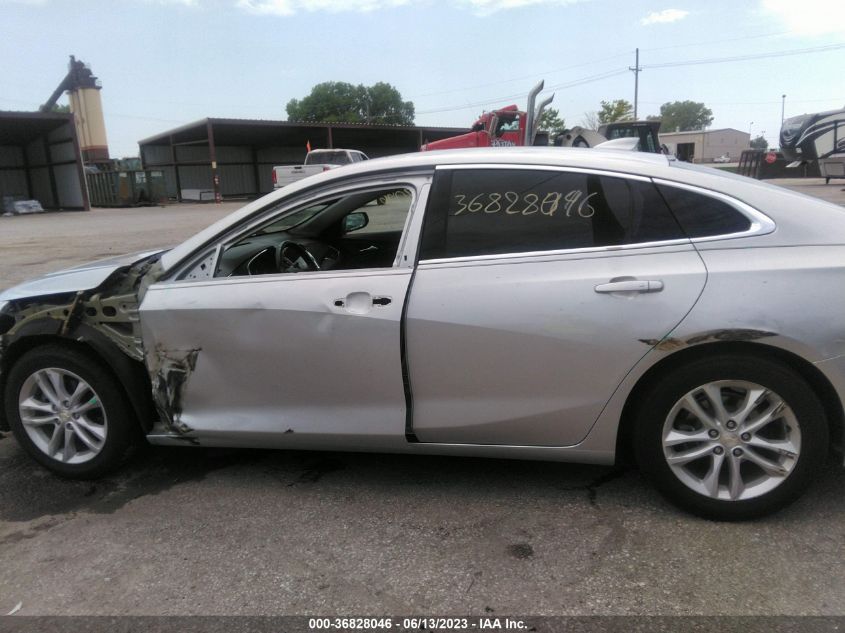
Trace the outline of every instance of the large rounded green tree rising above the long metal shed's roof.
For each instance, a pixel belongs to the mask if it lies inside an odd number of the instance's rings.
[[[414,124],[414,104],[402,101],[399,91],[384,82],[367,87],[327,81],[308,96],[291,99],[285,109],[289,121]]]

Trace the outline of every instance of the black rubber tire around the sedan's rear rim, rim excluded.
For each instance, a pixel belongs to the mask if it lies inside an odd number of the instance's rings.
[[[736,500],[707,496],[704,492],[693,490],[685,484],[667,462],[663,446],[663,432],[664,424],[672,413],[673,407],[686,394],[702,385],[716,381],[742,381],[764,387],[780,396],[791,409],[794,419],[797,421],[800,432],[800,451],[797,458],[794,458],[794,461],[790,463],[788,474],[782,480],[779,480],[779,483],[773,489],[764,491],[758,496]],[[718,393],[724,392],[720,390]],[[776,361],[734,355],[721,355],[693,361],[664,375],[648,393],[644,394],[638,404],[633,443],[640,469],[669,501],[707,519],[742,521],[765,516],[784,508],[795,501],[810,485],[827,457],[828,424],[824,408],[813,390],[797,372]],[[773,419],[777,420],[778,418],[774,417]],[[732,422],[729,421],[728,424],[730,423]],[[788,432],[791,426],[786,423],[784,428]],[[714,468],[715,458],[709,453],[699,458],[704,460],[703,462],[699,461],[699,465],[704,464],[709,469],[705,475],[715,471],[720,473],[719,477],[730,478],[733,477],[733,473],[730,472],[730,464],[727,460],[731,458],[725,451],[733,452],[739,448],[742,455],[742,447],[733,445],[734,448],[731,448],[731,445],[728,444],[731,441],[728,439],[728,431],[723,428],[722,432],[724,435],[720,435],[717,440],[712,440],[712,442],[722,443],[724,441],[726,448],[721,449],[720,455],[725,457],[724,461],[720,461],[720,464],[724,464],[728,472]],[[734,431],[733,441],[737,441],[736,433],[737,431]],[[705,446],[705,444],[706,442],[683,445],[680,450],[689,450],[688,446],[696,448],[697,446]],[[711,444],[706,445],[710,446]],[[746,445],[745,451],[748,451],[748,449],[749,446]],[[671,450],[674,451],[675,448]],[[714,452],[717,450],[719,449],[715,448]],[[758,453],[755,451],[755,454]],[[713,461],[708,462],[708,459]],[[737,463],[739,463],[739,458],[737,458]],[[694,462],[691,461],[690,464],[694,464]],[[703,466],[701,467],[703,468]],[[743,468],[746,468],[746,466],[743,466]],[[750,468],[753,471],[756,467],[752,464]],[[766,473],[761,471],[760,474],[765,479]],[[722,479],[718,480],[722,481]],[[770,481],[776,481],[776,479],[770,478]],[[729,495],[728,484],[720,486],[720,492],[716,497]]]

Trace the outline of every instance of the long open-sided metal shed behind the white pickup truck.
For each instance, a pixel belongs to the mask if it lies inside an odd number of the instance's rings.
[[[312,149],[346,148],[370,158],[416,152],[428,141],[463,134],[465,128],[290,123],[252,119],[202,119],[138,142],[144,169],[161,169],[170,198],[187,190],[210,198],[256,197],[273,190],[274,165],[301,165]]]

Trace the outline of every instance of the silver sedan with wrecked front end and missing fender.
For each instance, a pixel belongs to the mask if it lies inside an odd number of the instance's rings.
[[[665,156],[373,160],[0,294],[0,428],[68,477],[142,438],[630,456],[745,519],[841,446],[843,281],[843,209]]]

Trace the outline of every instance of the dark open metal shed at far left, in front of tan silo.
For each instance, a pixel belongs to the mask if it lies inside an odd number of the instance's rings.
[[[38,200],[45,209],[88,210],[72,114],[0,112],[0,201],[7,197]]]

